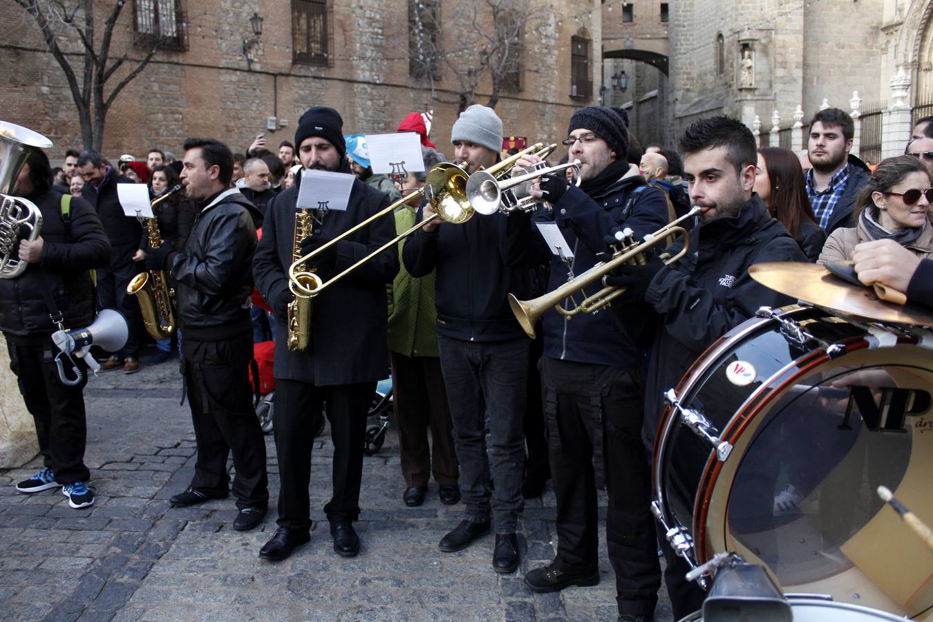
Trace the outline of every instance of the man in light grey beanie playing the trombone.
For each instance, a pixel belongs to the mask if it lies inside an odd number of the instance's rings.
[[[453,124],[451,142],[466,173],[488,169],[502,147],[502,121],[491,108],[471,105]],[[433,213],[428,203],[422,218]],[[516,291],[520,279],[508,264],[506,218],[477,215],[462,225],[434,220],[411,236],[402,257],[413,277],[437,270],[440,366],[466,505],[465,518],[441,539],[440,550],[466,548],[490,532],[492,518],[493,569],[514,572],[519,565],[515,526],[523,507],[522,416],[529,342],[508,309],[508,293]],[[487,422],[494,491],[486,453]]]

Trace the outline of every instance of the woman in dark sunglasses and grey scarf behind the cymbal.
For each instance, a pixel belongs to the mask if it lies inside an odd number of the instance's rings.
[[[856,200],[855,227],[833,231],[819,263],[852,259],[857,244],[878,240],[898,242],[921,258],[933,255],[931,201],[933,188],[923,162],[912,156],[885,159]]]

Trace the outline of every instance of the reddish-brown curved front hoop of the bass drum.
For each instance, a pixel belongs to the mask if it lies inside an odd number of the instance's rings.
[[[855,342],[851,342],[853,339],[855,339]],[[846,340],[850,341],[850,343],[845,343]],[[869,345],[865,339],[861,338],[845,339],[839,343],[845,346],[844,354],[863,350]],[[732,415],[720,437],[724,440],[728,440],[734,447],[739,438],[745,434],[748,426],[758,419],[762,408],[765,408],[769,404],[773,404],[773,400],[776,399],[776,397],[764,399],[765,397],[783,394],[788,384],[808,374],[815,367],[826,364],[832,360],[832,358],[833,357],[830,357],[826,352],[826,348],[820,348],[813,352],[807,352],[803,357],[788,362],[786,366],[781,367],[777,372],[773,373],[767,381],[761,383],[753,394],[748,396],[745,403]],[[797,371],[788,374],[788,372],[795,367]],[[776,379],[782,380],[773,388],[769,388]],[[744,456],[745,452],[735,457],[741,459]],[[708,538],[704,526],[706,524],[706,519],[709,517],[709,505],[712,491],[716,488],[719,475],[724,465],[725,463],[716,460],[716,452],[710,451],[709,458],[707,458],[706,464],[703,466],[703,475],[700,477],[700,485],[697,487],[697,496],[693,503],[692,516],[694,518],[692,525],[693,532],[691,535],[693,538],[693,554],[696,556],[698,563],[703,563],[706,560],[705,551]]]

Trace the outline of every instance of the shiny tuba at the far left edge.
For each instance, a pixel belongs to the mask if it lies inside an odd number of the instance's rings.
[[[0,121],[0,279],[15,279],[26,270],[21,261],[20,240],[33,241],[42,228],[42,213],[35,203],[10,196],[26,159],[35,149],[52,142],[40,133]]]

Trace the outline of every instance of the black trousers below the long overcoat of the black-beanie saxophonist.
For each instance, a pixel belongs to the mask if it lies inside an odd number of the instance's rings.
[[[375,382],[317,387],[299,380],[275,380],[275,451],[279,457],[280,527],[311,529],[311,449],[313,434],[327,401],[327,421],[334,444],[333,494],[324,512],[334,524],[359,518],[359,487],[363,478],[366,417]]]

